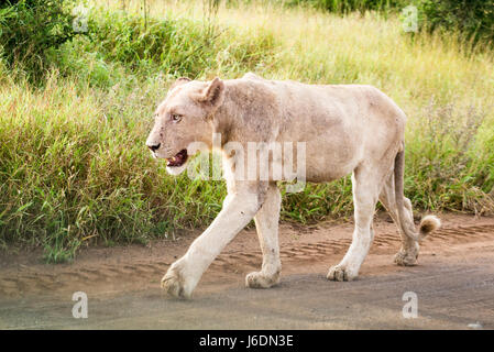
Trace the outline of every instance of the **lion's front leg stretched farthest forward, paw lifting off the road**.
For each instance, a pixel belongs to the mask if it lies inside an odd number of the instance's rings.
[[[260,199],[262,197],[252,191],[227,196],[215,221],[193,242],[187,253],[168,268],[162,279],[165,293],[189,298],[202,273],[257,212]]]

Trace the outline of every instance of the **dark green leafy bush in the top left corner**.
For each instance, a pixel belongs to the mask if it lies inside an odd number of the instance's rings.
[[[0,7],[0,55],[13,68],[21,66],[31,81],[50,66],[51,50],[69,41],[75,32],[72,1],[21,0]]]

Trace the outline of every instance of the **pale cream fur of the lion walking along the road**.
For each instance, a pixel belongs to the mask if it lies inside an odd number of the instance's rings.
[[[171,112],[183,116],[182,121],[172,122]],[[211,148],[213,133],[221,133],[221,145],[234,141],[245,150],[248,142],[306,142],[308,182],[326,183],[352,174],[353,241],[343,260],[328,273],[329,279],[351,280],[374,237],[377,200],[402,234],[402,249],[395,256],[399,265],[415,265],[418,241],[440,226],[439,219],[429,216],[417,231],[411,204],[403,195],[405,122],[393,100],[371,86],[305,85],[254,74],[210,82],[179,79],[156,110],[147,145],[161,143],[154,155],[169,158],[191,142]],[[166,293],[189,297],[215,257],[253,218],[263,264],[260,272],[246,276],[246,285],[266,288],[279,282],[279,190],[273,179],[238,180],[235,162],[235,155],[223,154],[228,187],[223,207],[163,277]],[[169,172],[177,174],[184,168]]]

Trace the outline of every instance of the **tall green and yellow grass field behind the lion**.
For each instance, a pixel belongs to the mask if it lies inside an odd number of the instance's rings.
[[[97,9],[91,35],[52,53],[33,87],[0,63],[0,245],[39,245],[51,262],[90,244],[146,243],[204,228],[221,182],[172,177],[144,145],[178,76],[370,84],[407,113],[406,195],[417,211],[494,211],[494,55],[455,34],[411,37],[398,19],[271,3],[140,1]],[[111,23],[111,25],[110,25]],[[348,178],[285,195],[284,220],[352,213]]]

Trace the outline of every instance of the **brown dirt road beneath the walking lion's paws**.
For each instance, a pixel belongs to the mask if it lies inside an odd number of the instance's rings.
[[[200,232],[149,246],[85,249],[72,264],[43,264],[39,251],[0,254],[1,329],[494,329],[494,218],[442,215],[419,265],[399,267],[395,226],[375,221],[371,253],[350,283],[326,279],[344,255],[352,223],[281,226],[283,278],[244,287],[261,266],[254,229],[242,231],[206,272],[193,300],[169,299],[160,279]],[[73,293],[88,296],[75,319]],[[405,319],[403,296],[417,295]]]

